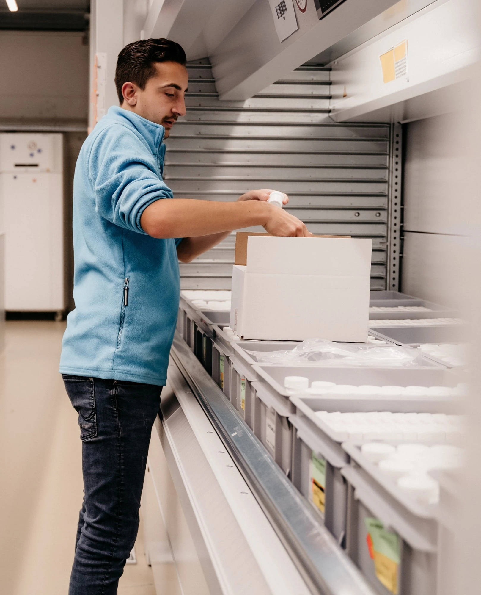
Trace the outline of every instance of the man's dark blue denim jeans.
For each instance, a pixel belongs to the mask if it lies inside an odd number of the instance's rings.
[[[62,374],[78,412],[84,499],[69,595],[114,595],[139,528],[161,386]]]

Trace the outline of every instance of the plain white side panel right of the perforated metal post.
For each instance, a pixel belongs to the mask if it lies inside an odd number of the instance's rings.
[[[445,114],[405,126],[402,290],[433,302],[463,302],[470,197],[466,143],[469,121]]]

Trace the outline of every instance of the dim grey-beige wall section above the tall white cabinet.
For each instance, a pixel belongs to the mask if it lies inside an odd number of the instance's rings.
[[[83,33],[0,31],[0,121],[86,120]]]

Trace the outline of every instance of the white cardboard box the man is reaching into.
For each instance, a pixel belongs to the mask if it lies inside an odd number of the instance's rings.
[[[365,342],[371,252],[370,239],[247,237],[231,328],[243,339]]]

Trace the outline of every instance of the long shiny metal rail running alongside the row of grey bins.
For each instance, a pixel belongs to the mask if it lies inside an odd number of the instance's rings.
[[[313,593],[374,595],[178,333],[171,356]]]

